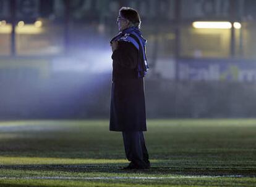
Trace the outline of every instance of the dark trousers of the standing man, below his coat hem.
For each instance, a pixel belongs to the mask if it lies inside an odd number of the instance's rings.
[[[148,151],[142,131],[122,132],[124,150],[128,161],[141,167],[149,167]]]

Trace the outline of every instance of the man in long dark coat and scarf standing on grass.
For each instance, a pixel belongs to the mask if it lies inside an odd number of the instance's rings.
[[[148,63],[140,23],[137,10],[122,7],[117,17],[119,34],[110,42],[113,77],[109,130],[122,132],[130,161],[124,169],[150,168],[143,135],[143,131],[147,131],[144,76]]]

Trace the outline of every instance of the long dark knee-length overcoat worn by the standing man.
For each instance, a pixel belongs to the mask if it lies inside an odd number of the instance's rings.
[[[144,79],[138,78],[138,50],[118,42],[114,50],[109,130],[146,131]]]

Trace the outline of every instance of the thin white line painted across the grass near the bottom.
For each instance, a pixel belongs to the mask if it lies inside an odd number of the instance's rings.
[[[21,179],[46,179],[46,180],[161,180],[171,178],[241,178],[242,175],[218,175],[218,176],[171,176],[171,177],[0,177],[0,180],[21,180]]]

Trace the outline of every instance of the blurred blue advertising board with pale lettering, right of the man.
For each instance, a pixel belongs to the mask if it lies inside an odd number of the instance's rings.
[[[256,81],[256,63],[249,60],[184,59],[177,66],[179,80]]]

